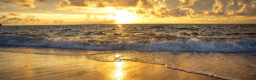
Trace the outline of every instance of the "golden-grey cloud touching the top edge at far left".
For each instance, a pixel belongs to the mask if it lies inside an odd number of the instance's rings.
[[[34,2],[42,3],[46,0],[3,0],[1,2],[7,3],[7,4],[21,4],[22,6],[19,6],[18,9],[29,9],[29,8],[35,8],[36,5],[34,5]]]

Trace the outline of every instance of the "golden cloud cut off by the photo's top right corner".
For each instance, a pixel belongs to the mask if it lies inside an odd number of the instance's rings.
[[[235,15],[256,16],[256,0],[236,0],[241,9],[235,11]]]

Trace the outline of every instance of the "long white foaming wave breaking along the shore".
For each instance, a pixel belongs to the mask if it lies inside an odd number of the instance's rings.
[[[85,50],[138,50],[138,51],[195,51],[195,52],[256,52],[256,39],[243,38],[233,41],[206,42],[197,38],[101,40],[87,41],[80,38],[20,37],[0,35],[0,45],[71,48]]]

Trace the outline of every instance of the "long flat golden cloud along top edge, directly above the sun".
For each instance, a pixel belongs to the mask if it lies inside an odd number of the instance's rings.
[[[60,0],[57,9],[66,10],[73,7],[141,7],[152,8],[157,0]]]

